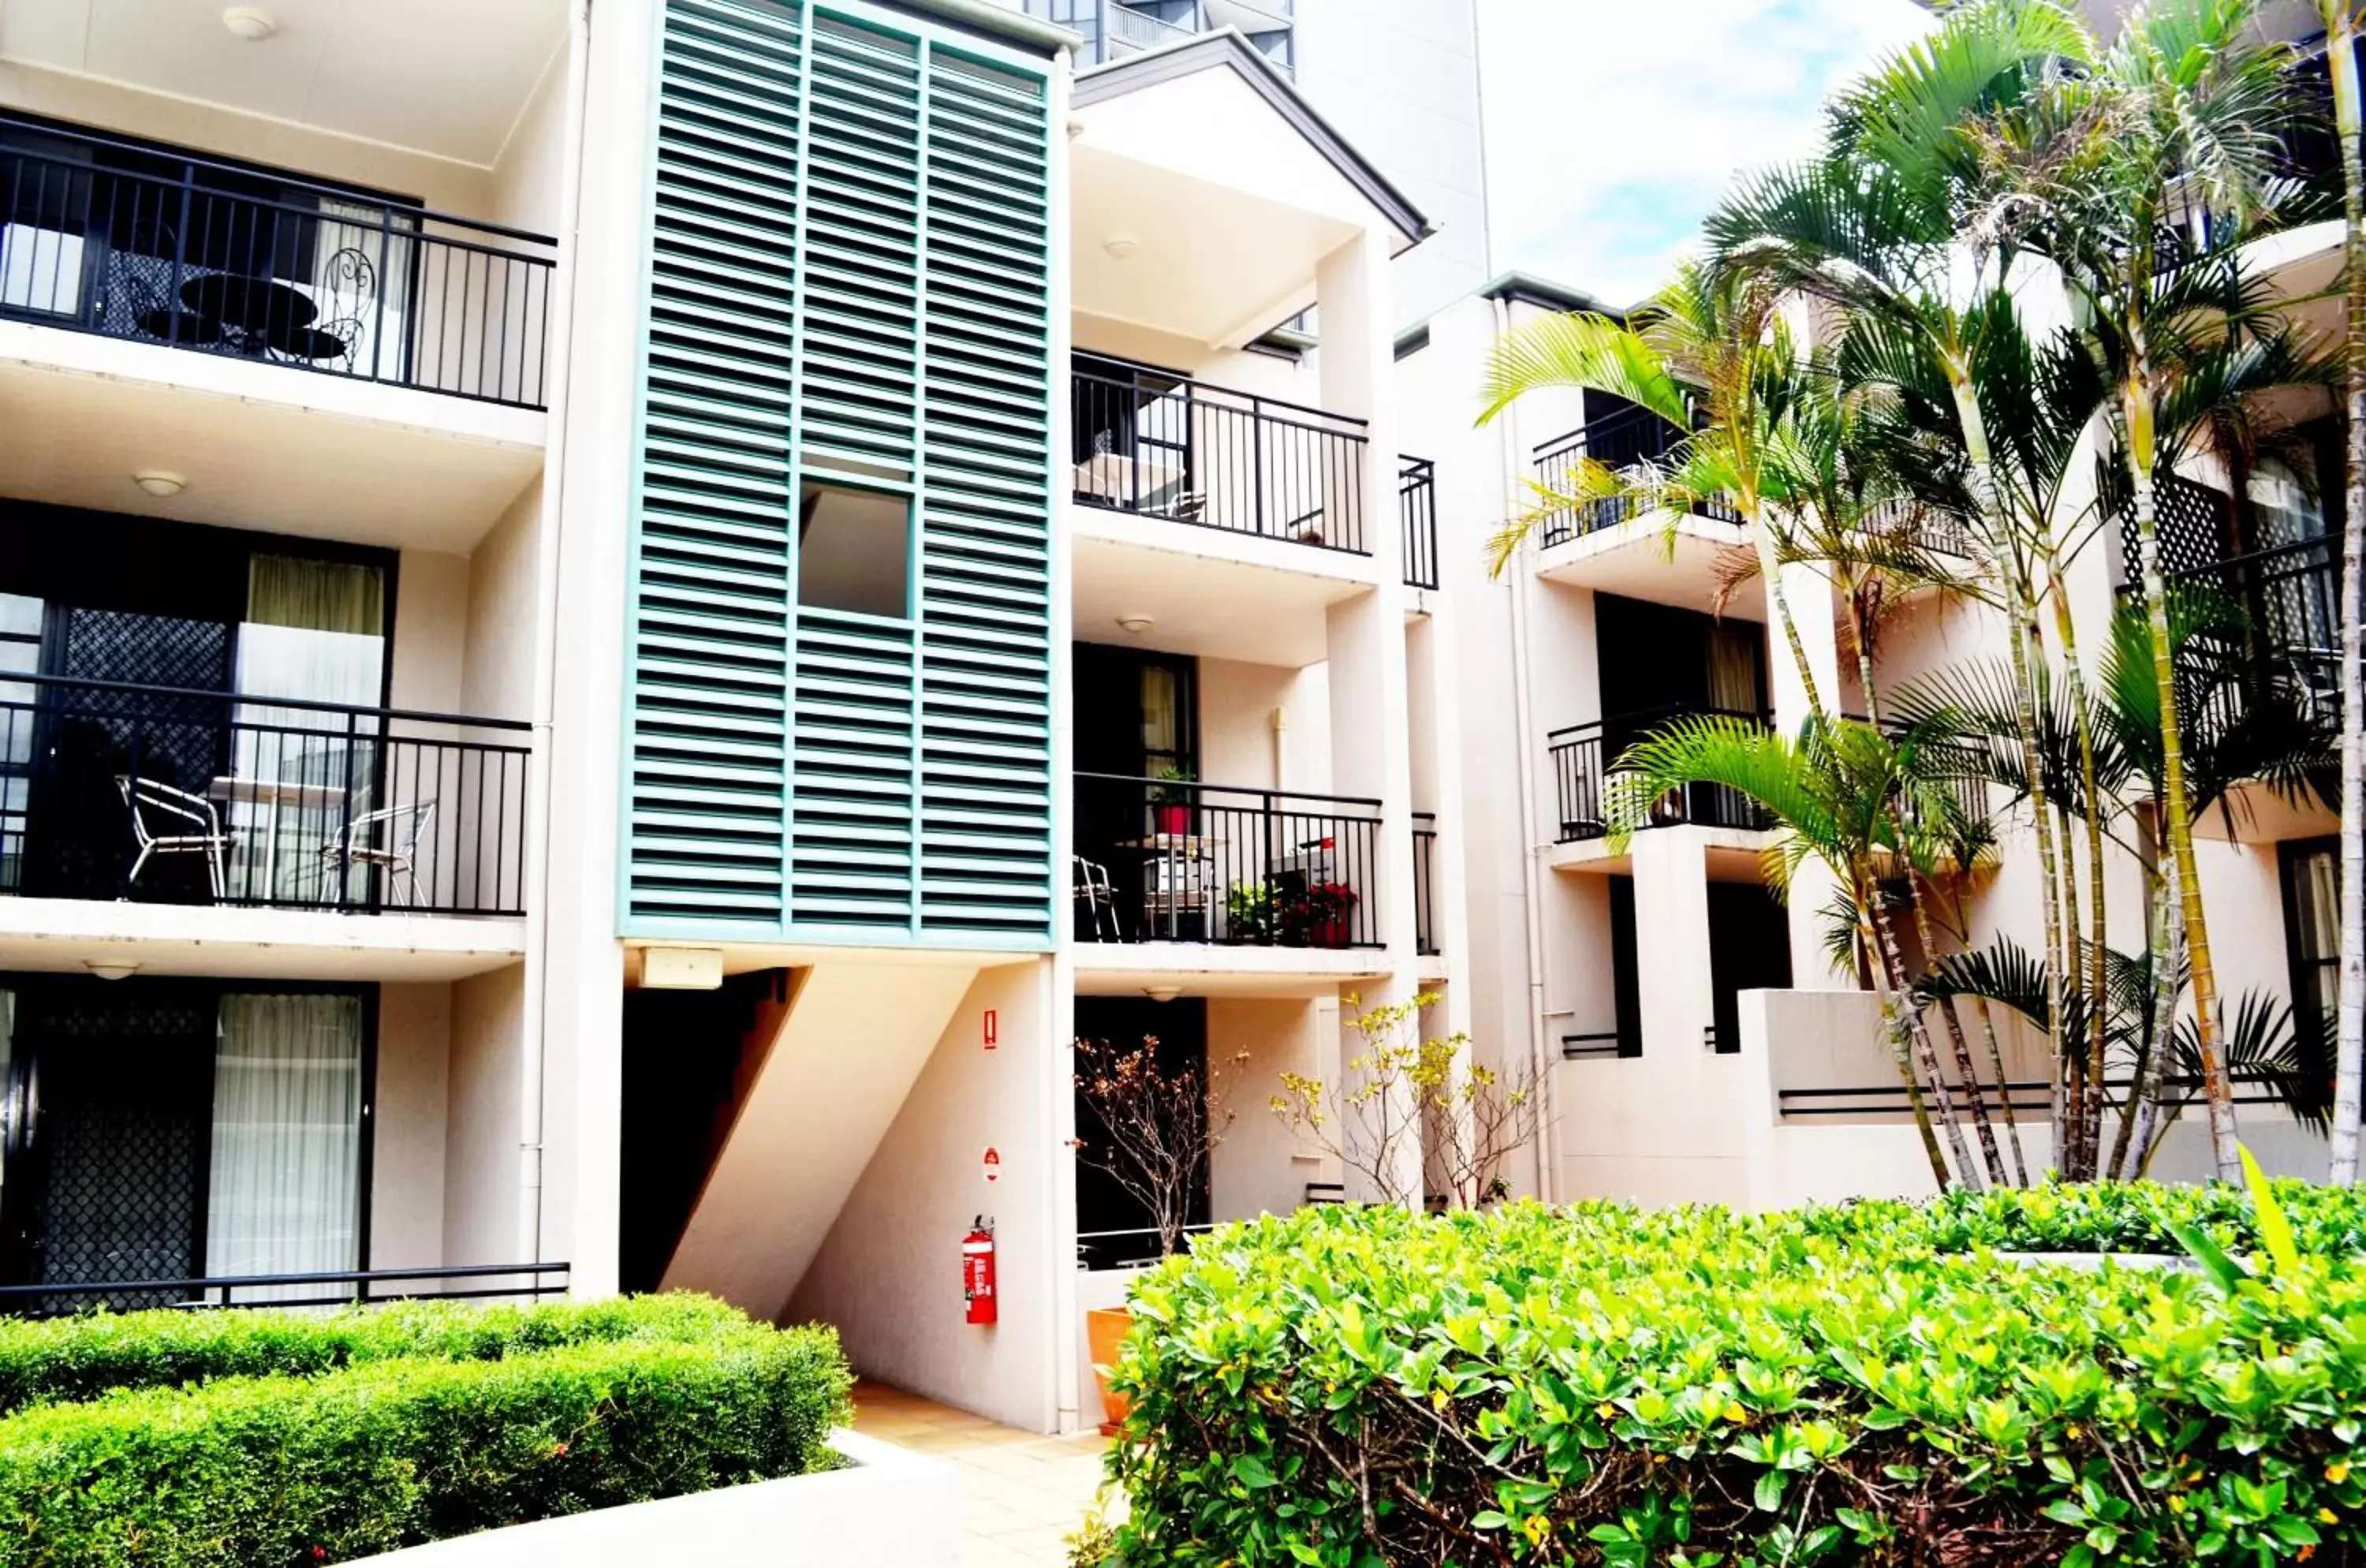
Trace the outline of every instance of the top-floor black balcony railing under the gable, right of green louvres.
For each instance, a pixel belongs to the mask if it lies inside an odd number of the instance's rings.
[[[1114,362],[1069,404],[1081,506],[1370,553],[1360,419]]]

